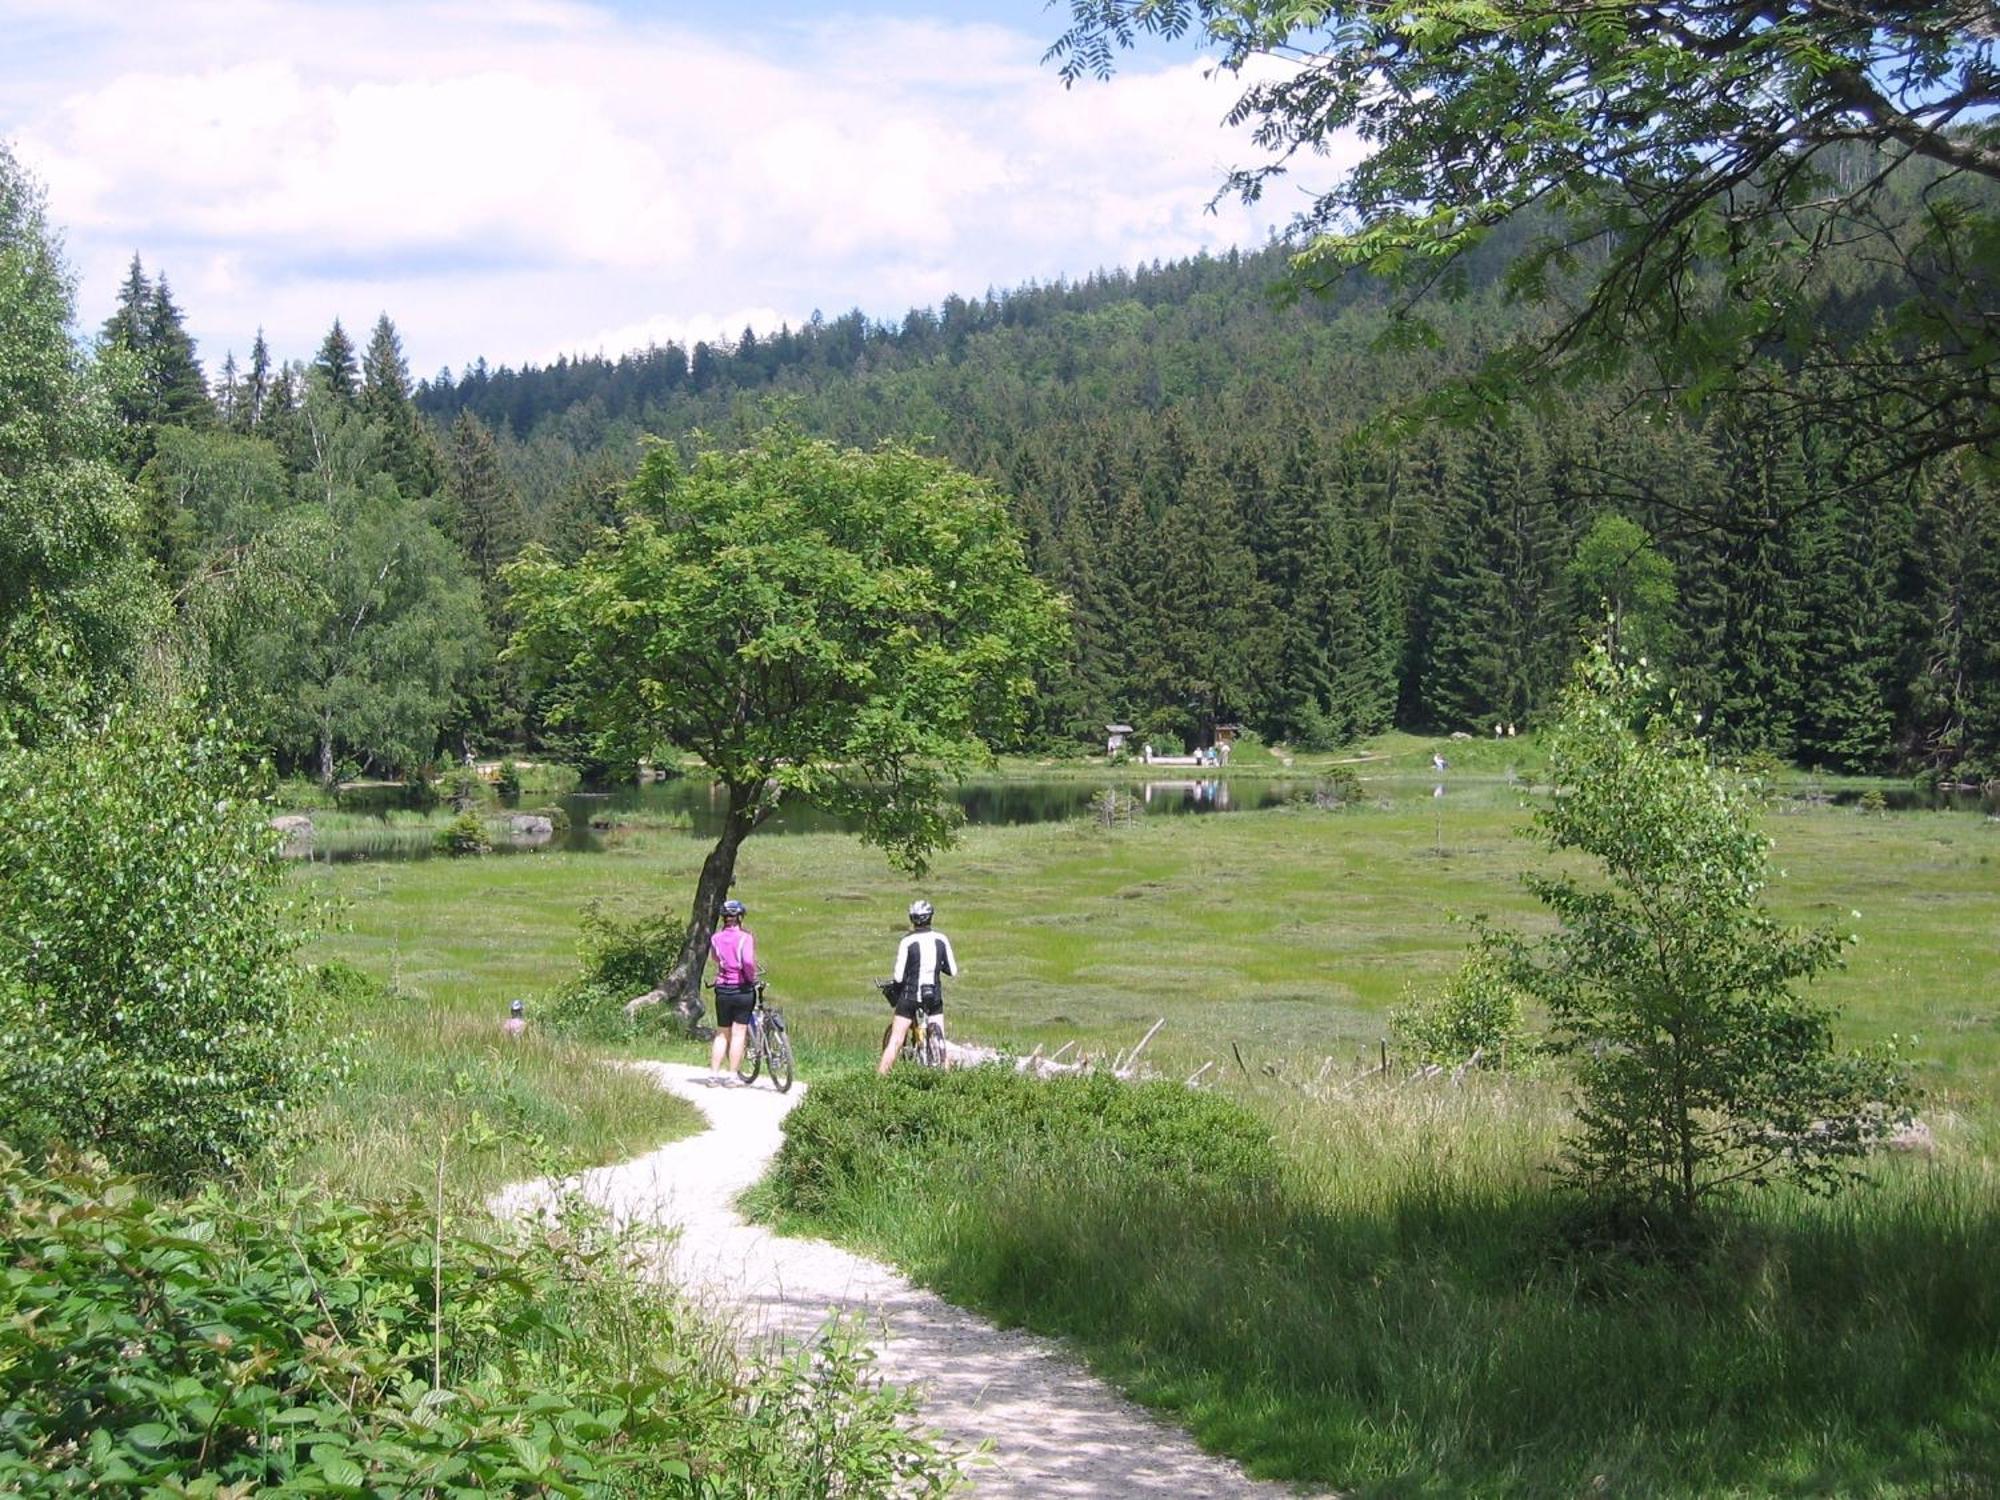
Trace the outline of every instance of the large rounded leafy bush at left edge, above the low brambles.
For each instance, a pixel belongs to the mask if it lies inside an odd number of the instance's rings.
[[[170,1180],[244,1166],[322,1078],[296,948],[230,746],[128,714],[0,758],[0,1136]]]

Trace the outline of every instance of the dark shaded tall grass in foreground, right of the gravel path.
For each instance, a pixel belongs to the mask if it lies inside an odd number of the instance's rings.
[[[1932,1170],[1770,1202],[1692,1268],[1564,1250],[1540,1188],[1362,1212],[958,1160],[838,1220],[952,1300],[1072,1338],[1270,1478],[1362,1496],[1992,1494],[2000,1218]]]

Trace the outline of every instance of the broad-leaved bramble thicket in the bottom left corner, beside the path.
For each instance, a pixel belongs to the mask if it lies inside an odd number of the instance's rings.
[[[588,1224],[516,1238],[420,1202],[152,1200],[4,1154],[0,1210],[6,1494],[950,1486],[852,1340],[738,1364]]]

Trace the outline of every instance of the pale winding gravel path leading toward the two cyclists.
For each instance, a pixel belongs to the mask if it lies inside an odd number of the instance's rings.
[[[752,1336],[808,1338],[834,1310],[866,1314],[876,1368],[918,1392],[924,1422],[966,1448],[990,1440],[990,1464],[972,1470],[980,1496],[1296,1494],[1204,1454],[1046,1338],[994,1328],[824,1240],[746,1224],[734,1198],[764,1174],[802,1086],[712,1088],[702,1068],[634,1066],[692,1100],[710,1130],[564,1184],[506,1188],[494,1212],[530,1214],[580,1186],[616,1220],[678,1224],[666,1274]]]

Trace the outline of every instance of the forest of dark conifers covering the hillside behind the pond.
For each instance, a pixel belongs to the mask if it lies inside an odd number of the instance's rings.
[[[496,660],[498,568],[528,540],[586,548],[646,434],[728,442],[772,416],[928,442],[1012,496],[1036,568],[1074,600],[1048,740],[1108,720],[1154,740],[1242,720],[1308,746],[1390,724],[1490,734],[1532,724],[1612,612],[1728,750],[2000,764],[2000,508],[1976,462],[1884,460],[1860,420],[1828,418],[1828,392],[1796,410],[1778,362],[1768,398],[1698,424],[1618,388],[1380,422],[1524,314],[1474,274],[1440,344],[1398,348],[1380,288],[1284,300],[1282,266],[1196,258],[900,324],[814,316],[414,388],[382,318],[360,352],[336,324],[310,366],[260,338],[212,404],[188,396],[164,280],[134,264],[106,338],[152,372],[134,464],[190,612],[246,548],[292,558],[294,606],[232,626],[214,670],[322,774],[534,738]],[[1832,288],[1824,316],[1872,316],[1860,260]]]

